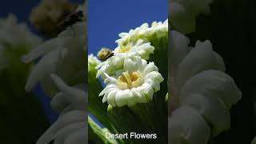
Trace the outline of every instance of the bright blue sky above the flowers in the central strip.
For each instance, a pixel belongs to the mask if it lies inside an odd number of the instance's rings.
[[[115,48],[118,34],[144,22],[165,21],[167,0],[89,0],[88,52]]]

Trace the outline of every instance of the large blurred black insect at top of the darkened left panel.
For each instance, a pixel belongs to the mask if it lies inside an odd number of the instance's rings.
[[[79,10],[67,15],[66,18],[64,18],[63,21],[58,24],[58,27],[62,28],[63,30],[66,30],[66,28],[70,26],[70,28],[74,32],[72,25],[74,25],[76,22],[82,22],[84,20],[85,17],[83,15],[83,11]]]

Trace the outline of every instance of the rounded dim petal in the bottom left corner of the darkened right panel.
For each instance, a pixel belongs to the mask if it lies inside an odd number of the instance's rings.
[[[206,144],[210,138],[210,126],[193,108],[183,106],[175,110],[168,121],[170,144]]]

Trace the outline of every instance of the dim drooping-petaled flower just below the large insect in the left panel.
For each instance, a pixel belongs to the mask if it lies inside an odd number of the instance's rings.
[[[78,7],[81,10],[82,6]],[[32,62],[40,58],[38,64],[32,70],[26,83],[26,90],[30,91],[41,83],[43,89],[51,97],[58,92],[50,74],[57,74],[69,85],[81,83],[86,73],[86,22],[77,22],[58,34],[58,38],[52,38],[22,58],[23,62]],[[70,77],[70,75],[73,75]]]

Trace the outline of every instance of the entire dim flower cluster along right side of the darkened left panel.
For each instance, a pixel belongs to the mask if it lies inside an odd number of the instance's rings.
[[[86,17],[86,3],[79,6]],[[58,34],[30,54],[23,62],[39,62],[26,83],[30,91],[40,83],[52,98],[51,106],[60,113],[58,120],[38,139],[37,144],[51,141],[63,144],[87,143],[86,114],[86,22],[77,22],[72,28]]]

